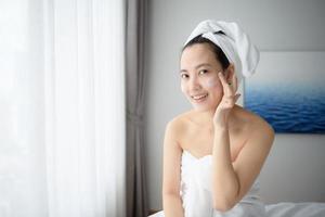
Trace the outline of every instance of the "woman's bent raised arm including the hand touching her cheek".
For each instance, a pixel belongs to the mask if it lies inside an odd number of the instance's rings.
[[[239,94],[237,78],[233,67],[230,69],[231,81],[219,73],[223,86],[223,98],[214,116],[214,138],[212,151],[212,199],[216,209],[226,212],[238,203],[248,192],[259,175],[271,150],[274,131],[272,127],[260,119],[251,126],[250,135],[232,163],[229,136],[229,117]]]

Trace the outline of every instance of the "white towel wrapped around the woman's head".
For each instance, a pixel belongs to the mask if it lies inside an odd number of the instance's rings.
[[[218,31],[222,31],[224,35]],[[191,33],[184,46],[199,35],[221,48],[230,63],[234,64],[238,82],[243,77],[249,77],[255,73],[260,53],[250,42],[248,35],[236,23],[203,21]]]

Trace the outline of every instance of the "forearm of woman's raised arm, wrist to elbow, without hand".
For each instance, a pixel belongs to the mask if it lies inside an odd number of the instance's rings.
[[[230,150],[229,128],[214,128],[212,151],[213,206],[227,210],[239,192],[239,181],[233,168]]]

